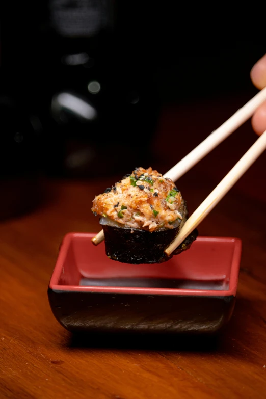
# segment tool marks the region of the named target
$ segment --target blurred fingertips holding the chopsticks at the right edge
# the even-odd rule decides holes
[[[258,89],[266,86],[266,54],[256,62],[250,72],[251,80]],[[254,131],[261,135],[266,130],[266,102],[254,113],[251,124]]]

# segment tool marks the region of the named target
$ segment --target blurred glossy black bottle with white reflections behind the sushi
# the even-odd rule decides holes
[[[149,166],[159,103],[132,11],[110,0],[18,2],[16,32],[6,23],[7,73],[41,122],[47,174]]]

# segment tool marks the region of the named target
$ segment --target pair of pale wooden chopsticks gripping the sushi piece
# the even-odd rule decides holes
[[[214,130],[205,140],[202,141],[194,150],[186,155],[172,169],[164,174],[164,177],[172,179],[174,182],[183,174],[188,172],[204,156],[216,148],[222,141],[229,137],[233,131],[245,123],[256,111],[256,109],[266,101],[266,88],[257,93],[242,108],[236,111],[226,122],[218,129]],[[165,253],[170,255],[188,235],[202,222],[209,212],[218,204],[218,202],[228,193],[238,179],[240,179],[249,167],[266,149],[266,130],[243,155],[230,172],[222,179],[217,187],[200,204],[191,217],[184,223],[182,229],[175,237],[174,241],[165,249]],[[104,240],[104,233],[101,230],[92,242],[98,245]]]

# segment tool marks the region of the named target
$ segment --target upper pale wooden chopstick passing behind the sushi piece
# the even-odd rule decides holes
[[[214,130],[205,140],[194,148],[188,155],[171,168],[164,177],[168,177],[176,181],[183,174],[188,172],[196,165],[204,156],[217,147],[222,141],[229,137],[234,130],[245,123],[256,111],[259,105],[266,100],[266,87],[258,92],[251,100],[249,100],[242,108],[236,111],[226,122],[218,129]],[[184,228],[184,226],[183,226]],[[183,230],[182,228],[182,230]],[[92,238],[94,245],[100,244],[104,240],[104,233],[101,230]]]

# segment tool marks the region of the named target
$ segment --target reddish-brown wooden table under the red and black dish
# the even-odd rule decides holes
[[[162,173],[250,96],[184,104],[164,111],[154,138]],[[190,117],[191,113],[194,115]],[[164,132],[164,136],[162,135]],[[166,134],[172,154],[160,150]],[[180,135],[181,136],[180,139]],[[189,137],[184,142],[182,137]],[[256,139],[247,123],[178,182],[190,211]],[[148,166],[148,165],[145,165]],[[135,165],[132,165],[135,167]],[[90,212],[105,180],[47,181],[48,199],[0,224],[0,397],[262,398],[266,395],[266,154],[201,224],[201,235],[243,240],[238,298],[218,338],[102,341],[72,337],[52,315],[47,286],[69,231],[98,231]],[[127,173],[127,171],[125,171]]]

